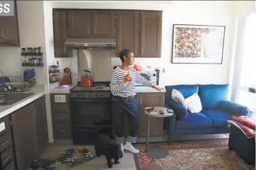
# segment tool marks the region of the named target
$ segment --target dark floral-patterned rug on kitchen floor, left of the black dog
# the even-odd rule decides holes
[[[86,161],[91,161],[93,158],[96,158],[96,156],[84,146],[74,146],[74,148],[64,150],[58,155],[35,160],[31,168],[33,170],[68,170]]]

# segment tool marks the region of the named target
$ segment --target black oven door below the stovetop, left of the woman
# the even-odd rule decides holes
[[[71,99],[72,127],[95,127],[94,122],[111,122],[110,99]]]

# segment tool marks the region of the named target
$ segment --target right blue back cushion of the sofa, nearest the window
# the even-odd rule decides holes
[[[221,100],[227,100],[229,85],[199,85],[198,95],[203,109],[215,108]]]

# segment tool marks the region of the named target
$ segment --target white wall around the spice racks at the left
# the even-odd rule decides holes
[[[22,67],[22,47],[42,47],[45,52],[43,1],[17,1],[20,47],[0,47],[0,69],[5,75],[21,76],[26,68],[35,68],[37,83],[45,84],[46,66]],[[43,56],[46,63],[46,56]]]

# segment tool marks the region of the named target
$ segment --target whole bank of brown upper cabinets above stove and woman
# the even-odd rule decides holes
[[[54,9],[55,57],[67,57],[70,38],[116,38],[116,51],[131,49],[138,58],[161,57],[162,12]],[[118,54],[118,53],[117,53]]]

